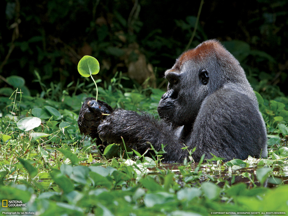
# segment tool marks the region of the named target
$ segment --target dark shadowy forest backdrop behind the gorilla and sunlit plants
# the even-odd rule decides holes
[[[52,83],[79,85],[84,55],[98,59],[100,86],[122,71],[126,88],[166,88],[164,71],[175,59],[212,38],[263,97],[288,94],[287,0],[2,0],[0,8],[0,96],[16,87],[13,75],[32,96]]]

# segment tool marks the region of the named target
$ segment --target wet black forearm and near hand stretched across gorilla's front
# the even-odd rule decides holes
[[[160,151],[163,144],[167,151],[163,155],[165,161],[183,162],[187,156],[181,149],[183,142],[175,135],[171,124],[145,113],[139,115],[135,111],[116,109],[99,125],[98,132],[102,141],[108,143],[122,143],[123,137],[126,145],[141,154],[150,148],[150,143],[156,151]]]

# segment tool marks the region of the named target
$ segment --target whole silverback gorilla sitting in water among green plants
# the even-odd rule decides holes
[[[157,109],[162,120],[86,98],[78,118],[81,134],[104,146],[122,143],[122,136],[140,153],[150,143],[156,151],[163,144],[167,162],[183,162],[188,156],[183,144],[196,147],[194,161],[203,154],[212,158],[210,153],[226,161],[266,157],[266,128],[256,96],[239,62],[217,40],[184,52],[165,78],[167,92]]]

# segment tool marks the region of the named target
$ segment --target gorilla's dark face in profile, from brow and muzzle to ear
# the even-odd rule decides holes
[[[209,73],[206,69],[194,61],[180,65],[179,59],[165,72],[169,83],[157,109],[160,118],[165,118],[176,127],[193,124],[209,88]]]

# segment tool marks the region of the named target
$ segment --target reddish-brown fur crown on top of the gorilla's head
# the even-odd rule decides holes
[[[220,59],[234,61],[232,55],[217,41],[208,40],[199,44],[196,48],[184,52],[169,71],[179,71],[182,64],[188,60],[205,61],[209,56],[216,56]],[[231,58],[232,57],[232,58]],[[235,62],[234,62],[235,63]]]

